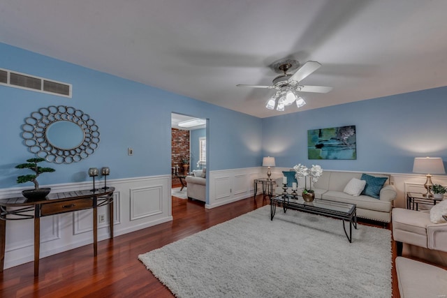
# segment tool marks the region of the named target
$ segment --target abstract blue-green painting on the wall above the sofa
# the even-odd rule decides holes
[[[309,159],[357,159],[356,126],[307,131],[307,157]]]

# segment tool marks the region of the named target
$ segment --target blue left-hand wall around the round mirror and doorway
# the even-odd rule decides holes
[[[171,112],[208,119],[210,170],[258,166],[262,158],[261,119],[10,45],[0,43],[0,53],[0,68],[73,84],[73,98],[0,86],[0,188],[20,186],[16,177],[31,173],[14,168],[34,157],[23,144],[21,126],[31,112],[50,105],[89,114],[101,142],[78,163],[43,164],[57,172],[39,177],[42,185],[89,180],[89,167],[110,167],[110,179],[170,174]]]

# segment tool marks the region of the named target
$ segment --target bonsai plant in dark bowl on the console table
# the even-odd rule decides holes
[[[39,167],[37,164],[45,161],[45,158],[29,158],[27,163],[16,165],[17,169],[29,169],[35,174],[27,174],[17,177],[17,183],[33,182],[34,189],[22,191],[22,195],[28,199],[43,199],[50,193],[51,188],[39,188],[37,177],[42,173],[54,172],[51,167]]]

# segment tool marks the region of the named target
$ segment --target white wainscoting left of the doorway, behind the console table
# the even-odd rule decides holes
[[[170,175],[110,179],[114,192],[114,235],[118,236],[143,228],[172,221]],[[52,192],[91,188],[91,182],[57,184]],[[0,199],[21,196],[25,188],[0,189]],[[32,213],[31,213],[32,214]],[[105,223],[98,224],[98,241],[110,238],[108,207],[98,207]],[[82,210],[41,218],[41,258],[93,243],[93,211]],[[87,256],[88,257],[88,256]],[[91,246],[91,258],[93,246]],[[34,260],[34,221],[6,221],[6,252],[4,269]],[[31,272],[32,274],[32,272]]]

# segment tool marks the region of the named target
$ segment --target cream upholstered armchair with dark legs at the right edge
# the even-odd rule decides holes
[[[403,243],[447,252],[447,223],[432,223],[430,212],[394,208],[393,239],[397,255]]]

